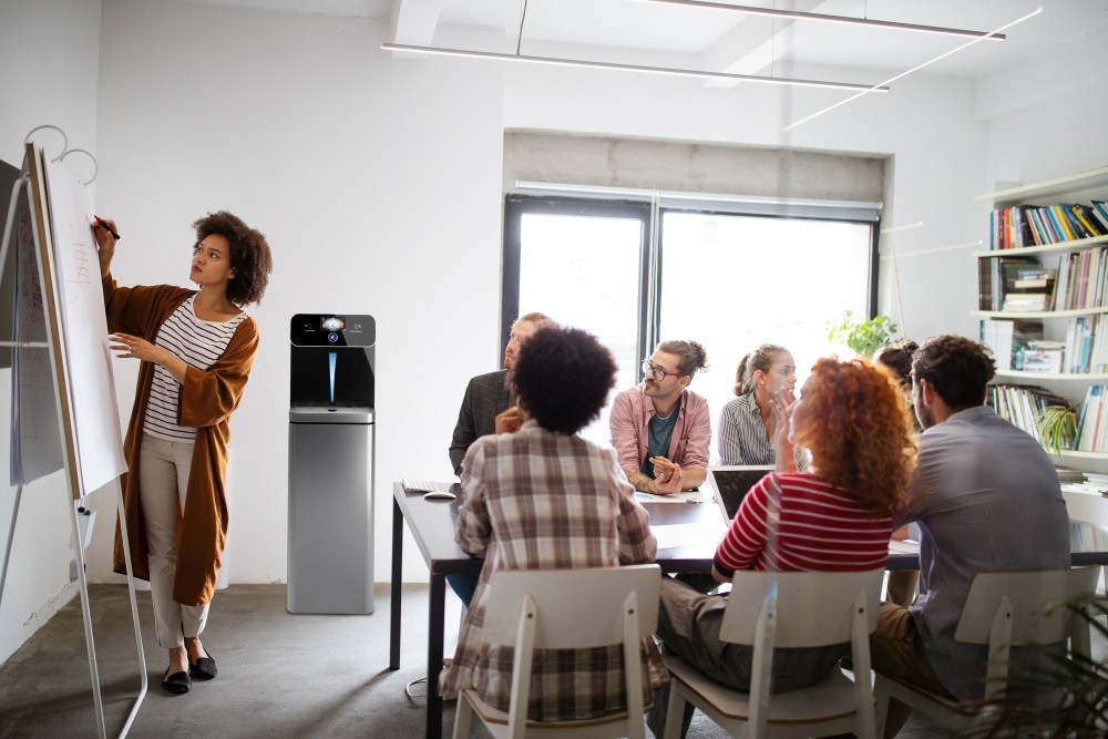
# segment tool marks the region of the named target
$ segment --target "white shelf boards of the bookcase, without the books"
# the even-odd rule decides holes
[[[1054,205],[1060,202],[1066,203],[1088,203],[1090,199],[1108,199],[1108,166],[1079,172],[1065,177],[1047,179],[1029,185],[1018,185],[1005,187],[992,193],[976,196],[974,199],[988,201],[994,208],[1005,208],[1015,205]],[[1083,238],[1046,246],[1029,246],[1014,249],[991,249],[987,252],[976,252],[973,254],[975,264],[981,265],[982,260],[1001,258],[1006,256],[1038,256],[1058,257],[1073,252],[1099,248],[1108,245],[1108,236],[1097,236],[1094,238]],[[1050,261],[1044,259],[1049,265]],[[978,266],[978,269],[982,268]],[[1003,279],[1003,276],[1002,276]],[[1047,310],[1034,312],[1002,312],[998,310],[974,310],[972,315],[981,318],[982,321],[989,320],[1043,320],[1047,338],[1061,338],[1061,332],[1068,321],[1083,317],[1108,314],[1108,305],[1076,310]],[[1085,394],[1092,384],[1108,384],[1108,373],[1057,373],[1057,372],[1025,372],[1018,370],[999,370],[996,373],[997,380],[1005,384],[1037,384],[1047,388],[1068,399],[1075,408],[1081,408]],[[1085,471],[1108,472],[1108,453],[1104,452],[1077,452],[1064,451],[1055,456],[1057,461],[1068,466],[1075,466]],[[1099,503],[1099,501],[1097,501]],[[1088,504],[1088,501],[1083,501]],[[1108,500],[1105,501],[1105,515],[1098,516],[1098,521],[1108,522]]]

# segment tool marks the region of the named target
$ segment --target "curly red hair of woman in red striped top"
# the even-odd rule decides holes
[[[815,473],[862,506],[893,514],[915,469],[912,420],[889,376],[860,360],[820,359],[804,386],[794,442]]]

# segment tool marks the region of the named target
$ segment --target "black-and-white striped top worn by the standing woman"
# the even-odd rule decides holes
[[[230,343],[238,325],[246,318],[242,312],[228,321],[209,321],[196,317],[193,302],[196,296],[182,302],[162,324],[154,345],[168,349],[185,363],[206,370],[215,363]],[[196,429],[177,425],[177,404],[181,399],[181,383],[161,365],[154,365],[154,382],[150,389],[143,432],[170,441],[194,441]]]

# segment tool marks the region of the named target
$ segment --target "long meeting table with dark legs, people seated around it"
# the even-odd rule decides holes
[[[458,483],[435,483],[440,490],[461,493]],[[643,501],[650,514],[650,528],[658,538],[657,563],[668,573],[709,573],[716,544],[725,523],[719,507],[710,501],[670,503]],[[408,528],[430,572],[427,646],[427,722],[428,739],[442,737],[442,697],[438,677],[442,669],[447,575],[478,575],[483,560],[471,557],[454,541],[459,500],[424,500],[420,492],[406,492],[400,482],[392,484],[392,573],[390,587],[389,669],[400,669],[400,587],[403,574],[403,528]],[[1108,528],[1071,521],[1070,547],[1074,566],[1108,564]],[[888,569],[919,569],[919,552],[911,546],[891,546]]]

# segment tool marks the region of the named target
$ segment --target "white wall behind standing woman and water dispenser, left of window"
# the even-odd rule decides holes
[[[250,310],[261,347],[232,421],[232,582],[286,577],[288,324],[312,311],[377,318],[387,581],[391,482],[452,476],[465,382],[500,351],[499,70],[392,60],[381,24],[322,16],[109,0],[103,29],[96,207],[120,224],[120,281],[186,284],[189,225],[219,208],[274,249]],[[133,382],[121,373],[124,419]],[[407,560],[410,578],[425,576],[413,547]]]

